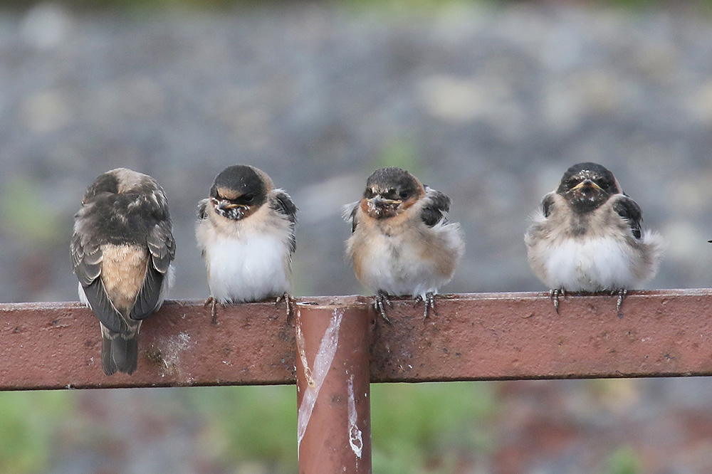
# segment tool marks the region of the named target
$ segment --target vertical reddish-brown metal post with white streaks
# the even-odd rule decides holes
[[[300,474],[371,473],[371,321],[367,305],[297,305]]]

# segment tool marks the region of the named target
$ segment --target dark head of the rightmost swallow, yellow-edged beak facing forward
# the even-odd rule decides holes
[[[566,199],[578,213],[593,211],[621,192],[612,172],[590,162],[575,164],[567,169],[556,190],[556,194]]]

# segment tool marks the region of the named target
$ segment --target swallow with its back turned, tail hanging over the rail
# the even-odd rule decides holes
[[[101,325],[104,373],[132,374],[138,333],[172,285],[175,241],[155,179],[130,169],[101,174],[74,216],[70,243],[79,299]]]

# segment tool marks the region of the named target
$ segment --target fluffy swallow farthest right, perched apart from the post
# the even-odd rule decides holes
[[[550,290],[556,312],[559,294],[618,294],[617,311],[629,288],[657,273],[663,238],[641,227],[640,206],[613,173],[596,163],[566,170],[525,233],[529,264]]]

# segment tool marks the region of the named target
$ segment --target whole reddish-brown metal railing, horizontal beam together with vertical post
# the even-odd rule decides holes
[[[420,303],[422,305],[422,303]],[[144,323],[138,369],[107,377],[77,303],[0,304],[0,390],[297,384],[299,472],[371,472],[370,382],[712,375],[712,290],[444,295],[422,318],[365,297],[218,307],[167,302]]]

